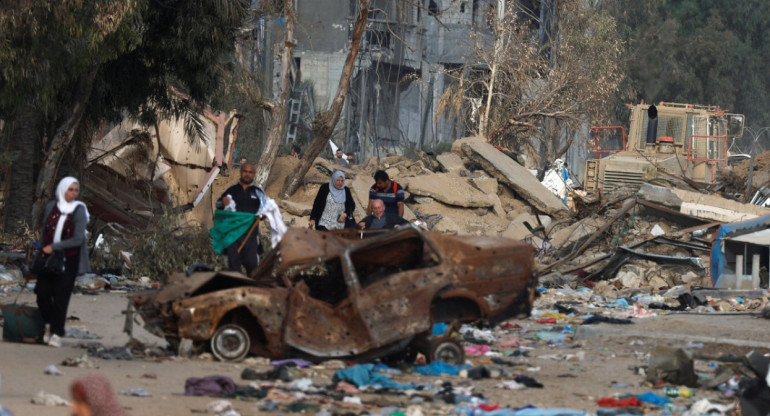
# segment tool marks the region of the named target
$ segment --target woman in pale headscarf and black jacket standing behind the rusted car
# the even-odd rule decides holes
[[[345,174],[336,171],[328,184],[321,185],[310,212],[309,228],[316,230],[341,230],[345,220],[353,218],[356,204],[350,189],[345,186]]]

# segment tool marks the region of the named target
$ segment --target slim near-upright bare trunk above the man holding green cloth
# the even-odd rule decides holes
[[[278,150],[281,148],[281,140],[286,135],[286,117],[289,113],[287,101],[289,98],[289,74],[291,72],[291,58],[294,50],[294,9],[292,0],[284,0],[284,16],[286,18],[286,39],[283,42],[283,56],[281,57],[281,94],[270,117],[270,132],[262,149],[262,156],[256,166],[254,182],[264,188],[270,170],[273,168]]]

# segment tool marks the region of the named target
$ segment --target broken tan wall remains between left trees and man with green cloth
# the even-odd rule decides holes
[[[231,163],[237,137],[233,114],[227,137],[218,137],[217,124],[203,116],[202,137],[195,138],[187,135],[182,119],[161,120],[150,128],[129,120],[113,126],[88,153],[94,180],[85,187],[93,188],[89,192],[97,207],[93,214],[105,221],[141,225],[162,213],[154,203],[161,202],[168,208],[182,208],[188,223],[211,226],[213,199],[206,184],[219,174],[219,166],[226,171]],[[149,184],[149,199],[154,201],[143,201],[128,187],[114,188],[103,182],[104,172],[128,183]],[[100,209],[112,212],[100,213]]]

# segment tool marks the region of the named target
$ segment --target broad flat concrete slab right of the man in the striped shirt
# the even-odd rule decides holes
[[[409,192],[429,196],[447,205],[464,208],[488,208],[492,201],[472,187],[468,181],[453,173],[415,176],[409,180]]]

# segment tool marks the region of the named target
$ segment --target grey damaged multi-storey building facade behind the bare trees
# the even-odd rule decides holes
[[[373,0],[346,106],[332,139],[358,160],[409,147],[433,148],[464,137],[462,123],[435,117],[451,80],[446,70],[465,63],[471,31],[485,31],[492,0],[401,2]],[[294,48],[287,143],[307,143],[309,120],[336,93],[357,16],[357,2],[295,2]],[[272,39],[272,91],[280,79],[282,21],[261,39]],[[272,29],[270,29],[272,28]],[[272,33],[270,33],[272,32]],[[269,41],[268,41],[269,42]],[[260,40],[256,43],[264,45]],[[278,46],[276,46],[278,45]],[[309,87],[312,86],[312,87]],[[308,116],[310,115],[310,116]],[[384,154],[383,154],[384,155]]]

